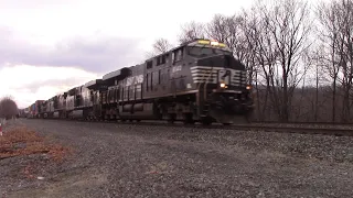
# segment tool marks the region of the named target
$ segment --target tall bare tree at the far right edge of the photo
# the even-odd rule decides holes
[[[339,92],[342,92],[342,121],[351,118],[352,107],[352,36],[353,36],[353,2],[339,0],[322,3],[318,9],[321,30],[318,32],[322,43],[321,64],[332,79],[332,122],[336,118]],[[341,91],[338,90],[341,84]]]

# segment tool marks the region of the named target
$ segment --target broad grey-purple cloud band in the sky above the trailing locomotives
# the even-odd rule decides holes
[[[10,29],[0,26],[0,65],[3,63],[35,66],[75,66],[95,73],[108,73],[139,64],[139,40],[126,37],[76,37],[58,43],[54,48],[19,40]]]

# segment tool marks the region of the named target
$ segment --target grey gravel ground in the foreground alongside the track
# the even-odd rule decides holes
[[[352,197],[353,138],[28,120],[74,153],[0,161],[4,197]],[[30,169],[34,177],[22,173]],[[38,176],[44,179],[38,179]]]

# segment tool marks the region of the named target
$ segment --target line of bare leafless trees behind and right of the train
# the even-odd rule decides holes
[[[353,0],[258,0],[234,15],[182,25],[178,41],[193,38],[223,42],[245,64],[253,120],[351,122]],[[152,54],[171,47],[159,38]]]

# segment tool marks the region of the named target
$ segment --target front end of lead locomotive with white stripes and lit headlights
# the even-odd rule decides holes
[[[199,114],[227,124],[246,122],[253,111],[246,67],[223,43],[199,40],[186,45],[186,56],[197,89]]]

